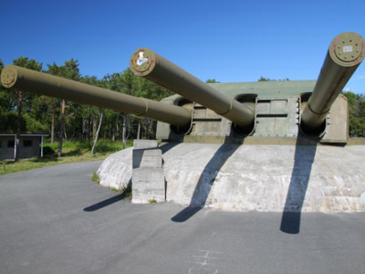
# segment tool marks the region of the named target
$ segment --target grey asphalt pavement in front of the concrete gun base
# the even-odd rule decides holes
[[[131,205],[90,181],[99,162],[0,176],[1,273],[364,273],[365,214]]]

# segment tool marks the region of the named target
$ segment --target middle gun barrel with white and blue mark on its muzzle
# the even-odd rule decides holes
[[[193,100],[215,111],[242,127],[249,127],[255,120],[255,113],[227,95],[195,78],[169,60],[142,47],[130,58],[130,69],[139,76],[172,90],[183,97]]]

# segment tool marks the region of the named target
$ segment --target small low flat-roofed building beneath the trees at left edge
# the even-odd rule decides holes
[[[20,134],[19,158],[43,157],[43,139],[47,134]],[[0,161],[16,158],[16,134],[0,133]]]

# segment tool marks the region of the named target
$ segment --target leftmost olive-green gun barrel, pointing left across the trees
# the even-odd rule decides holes
[[[8,65],[3,69],[1,83],[5,88],[15,87],[36,94],[128,112],[176,126],[188,125],[192,120],[192,112],[183,107],[134,97],[14,65]]]

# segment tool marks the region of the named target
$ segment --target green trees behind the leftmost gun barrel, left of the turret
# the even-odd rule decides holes
[[[98,79],[82,76],[78,60],[73,58],[63,65],[47,64],[47,69],[42,69],[43,64],[35,59],[24,57],[14,59],[13,64],[151,100],[172,95],[171,91],[135,76],[129,68]],[[0,73],[3,68],[0,59]],[[0,132],[48,132],[50,142],[58,141],[58,156],[62,155],[63,140],[93,141],[94,148],[100,136],[121,140],[125,147],[127,140],[153,138],[155,131],[156,121],[150,119],[0,86]]]

